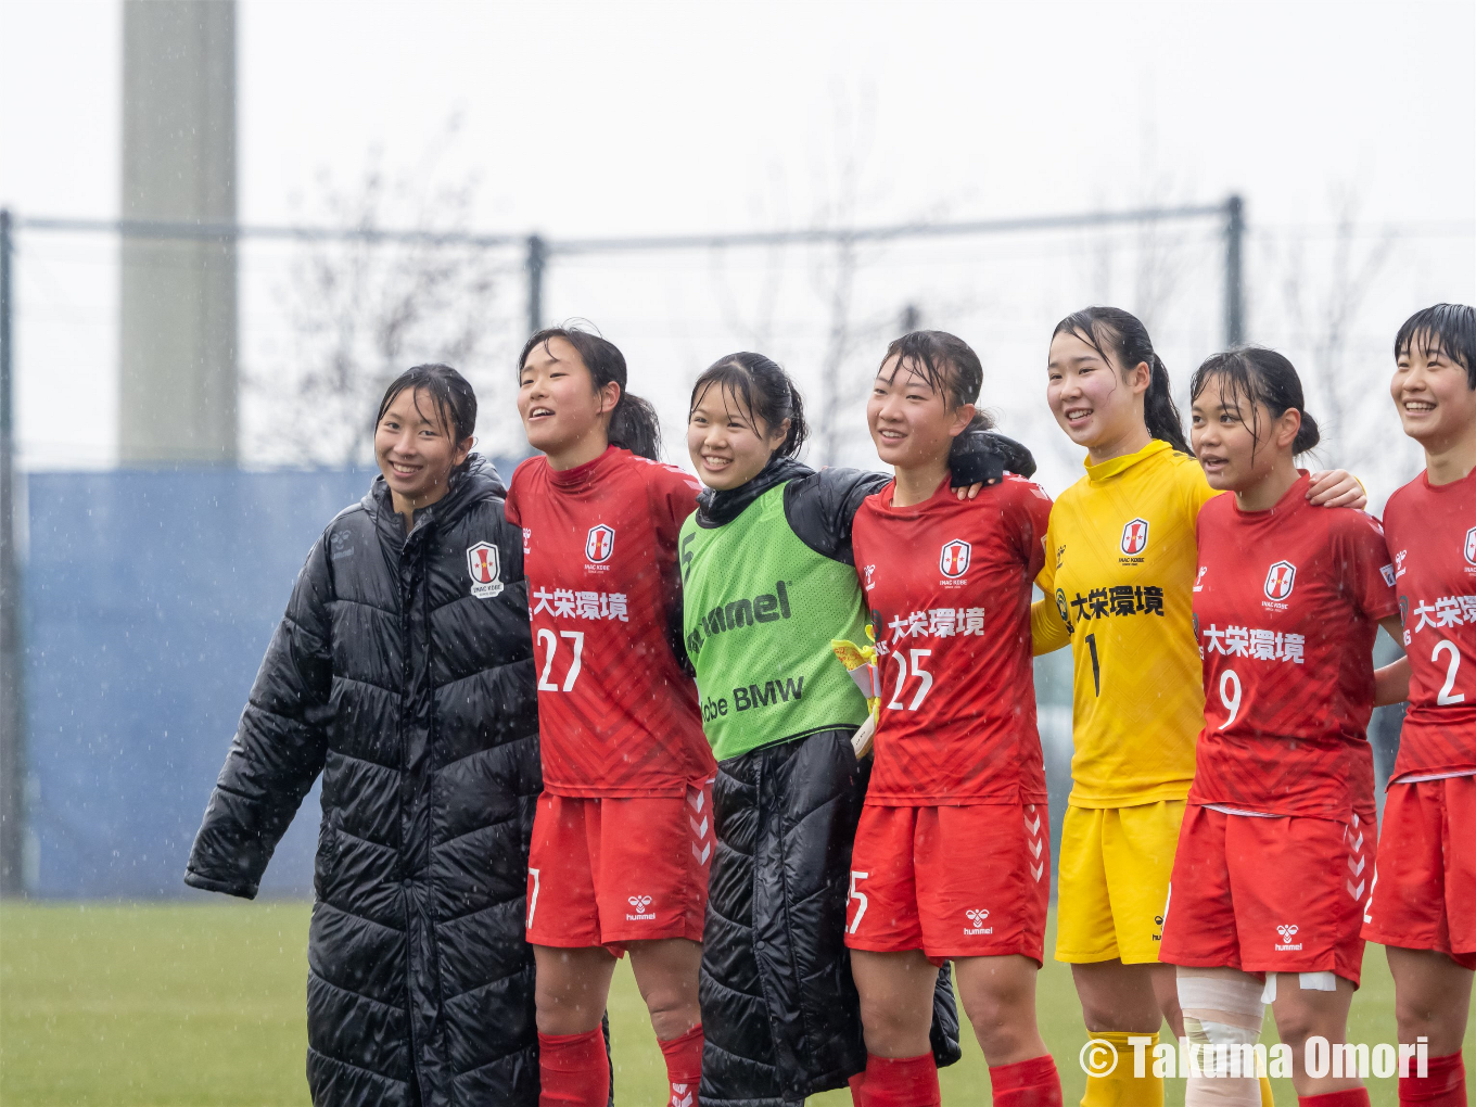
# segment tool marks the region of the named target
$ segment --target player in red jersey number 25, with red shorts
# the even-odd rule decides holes
[[[852,855],[852,973],[866,1033],[862,1104],[939,1104],[934,968],[952,959],[995,1107],[1060,1107],[1035,1021],[1051,852],[1035,728],[1030,589],[1051,500],[1007,475],[959,500],[956,435],[983,368],[955,335],[887,347],[866,421],[896,478],[856,512],[856,571],[883,682]],[[979,859],[987,859],[980,865]]]

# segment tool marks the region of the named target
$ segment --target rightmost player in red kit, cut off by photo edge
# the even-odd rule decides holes
[[[1399,1077],[1399,1103],[1464,1107],[1476,970],[1476,310],[1417,311],[1393,353],[1395,407],[1426,469],[1384,508],[1410,713],[1364,937],[1387,946],[1399,1042],[1427,1039],[1427,1073]]]

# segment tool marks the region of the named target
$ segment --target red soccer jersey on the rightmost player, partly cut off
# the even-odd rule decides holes
[[[1476,472],[1389,497],[1384,531],[1410,655],[1393,778],[1476,769]]]

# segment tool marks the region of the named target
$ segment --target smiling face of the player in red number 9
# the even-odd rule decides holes
[[[1190,409],[1190,444],[1209,486],[1219,492],[1246,492],[1292,463],[1292,444],[1302,413],[1289,407],[1280,419],[1265,404],[1225,387],[1212,376]]]

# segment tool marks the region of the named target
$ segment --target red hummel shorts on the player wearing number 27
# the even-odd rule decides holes
[[[711,781],[686,799],[539,796],[528,853],[528,942],[703,940],[713,861]]]

